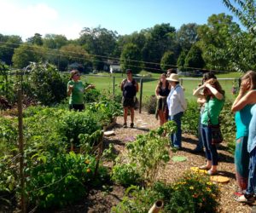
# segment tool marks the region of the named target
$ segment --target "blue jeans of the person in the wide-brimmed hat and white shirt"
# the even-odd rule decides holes
[[[170,139],[171,139],[171,146],[172,147],[177,147],[181,148],[181,135],[182,135],[182,130],[181,130],[181,118],[183,117],[183,112],[178,112],[175,115],[169,116],[169,120],[175,121],[177,124],[177,132],[171,134]]]

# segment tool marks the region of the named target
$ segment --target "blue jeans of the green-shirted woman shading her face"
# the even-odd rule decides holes
[[[207,160],[211,160],[212,165],[218,165],[217,147],[212,144],[212,130],[204,124],[201,124],[201,139],[206,147]]]

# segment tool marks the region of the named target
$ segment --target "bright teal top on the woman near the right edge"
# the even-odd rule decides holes
[[[253,104],[243,107],[235,114],[236,139],[249,135],[249,124],[252,118],[251,108]]]

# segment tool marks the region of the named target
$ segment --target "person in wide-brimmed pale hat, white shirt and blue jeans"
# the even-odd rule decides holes
[[[172,134],[170,138],[171,146],[179,149],[182,147],[181,118],[183,117],[183,112],[187,109],[187,102],[184,98],[183,88],[179,84],[177,74],[172,73],[166,80],[170,82],[172,87],[167,97],[168,120],[173,120],[177,124],[177,132]]]

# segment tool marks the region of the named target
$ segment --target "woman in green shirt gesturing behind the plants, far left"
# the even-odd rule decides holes
[[[78,70],[70,72],[70,81],[67,83],[67,95],[69,96],[69,110],[83,111],[84,110],[84,92],[87,89],[95,88],[90,84],[84,88],[83,82],[80,80]]]

